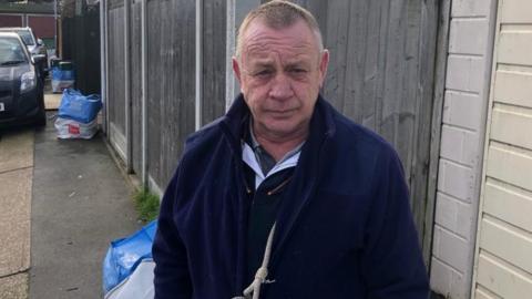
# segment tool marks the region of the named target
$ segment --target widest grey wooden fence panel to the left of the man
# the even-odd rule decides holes
[[[195,6],[186,0],[147,2],[149,173],[162,188],[195,120]]]

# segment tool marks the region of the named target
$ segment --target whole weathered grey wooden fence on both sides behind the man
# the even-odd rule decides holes
[[[200,23],[197,2],[202,3]],[[232,101],[225,96],[226,79],[232,78],[226,71],[226,45],[234,44],[232,38],[226,40],[234,35],[227,34],[227,30],[233,30],[227,24],[228,17],[234,17],[231,11],[235,8],[231,6],[243,2],[259,1],[111,0],[104,4],[109,136],[131,171],[145,173],[155,189],[164,189],[175,169],[183,141],[196,130],[195,115],[201,115],[200,124],[204,125],[223,115],[226,103]],[[431,155],[438,146],[431,138],[439,136],[440,121],[432,115],[441,109],[441,101],[433,96],[441,18],[438,1],[295,2],[315,13],[330,50],[324,95],[346,115],[381,134],[398,151],[428,257],[433,213],[430,186],[436,182],[429,176],[429,166],[438,158]],[[141,63],[143,11],[146,73]],[[200,90],[195,79],[196,53],[202,58]],[[124,65],[129,65],[126,82]],[[147,80],[144,90],[143,75]],[[197,93],[202,95],[201,103],[196,102]],[[147,121],[145,140],[142,115]]]

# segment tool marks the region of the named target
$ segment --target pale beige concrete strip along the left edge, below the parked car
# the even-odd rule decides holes
[[[0,298],[28,298],[33,130],[0,134]]]

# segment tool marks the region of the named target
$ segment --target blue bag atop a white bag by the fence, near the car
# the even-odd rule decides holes
[[[100,95],[83,95],[80,91],[66,89],[61,97],[58,116],[88,124],[96,117],[100,109],[102,109]]]

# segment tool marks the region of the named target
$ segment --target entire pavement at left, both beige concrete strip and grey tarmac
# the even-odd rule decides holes
[[[53,121],[0,132],[0,299],[101,298],[109,243],[141,226],[101,133],[57,140]]]

